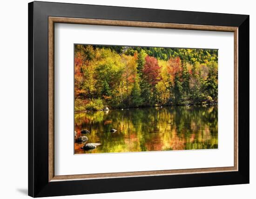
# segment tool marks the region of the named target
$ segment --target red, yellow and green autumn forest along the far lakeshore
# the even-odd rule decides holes
[[[210,49],[75,45],[75,111],[216,103]]]

